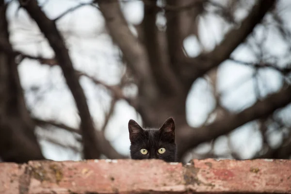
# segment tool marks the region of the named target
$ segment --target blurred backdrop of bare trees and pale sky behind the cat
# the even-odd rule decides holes
[[[0,159],[291,158],[290,0],[0,0]]]

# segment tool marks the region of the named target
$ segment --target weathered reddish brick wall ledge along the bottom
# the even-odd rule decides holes
[[[291,160],[0,163],[0,194],[287,193]]]

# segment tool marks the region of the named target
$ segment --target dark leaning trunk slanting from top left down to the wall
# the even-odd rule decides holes
[[[102,145],[97,142],[95,128],[88,109],[86,97],[81,88],[78,76],[73,68],[63,37],[57,30],[55,23],[42,12],[36,0],[19,0],[19,2],[35,20],[40,30],[48,39],[51,48],[55,52],[56,59],[63,70],[66,83],[72,92],[81,117],[84,158],[99,158],[101,154],[99,148]]]

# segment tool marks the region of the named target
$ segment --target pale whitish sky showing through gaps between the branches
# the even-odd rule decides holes
[[[40,0],[40,4],[46,2],[43,11],[50,19],[64,13],[70,7],[88,0]],[[218,1],[223,3],[224,1]],[[280,1],[281,7],[289,6],[287,0]],[[288,5],[288,6],[287,6]],[[26,11],[16,11],[18,4],[13,1],[8,8],[9,28],[11,42],[15,49],[31,55],[53,57],[53,50],[39,31],[35,22],[27,16]],[[251,4],[249,5],[251,7]],[[143,19],[143,3],[140,0],[131,0],[122,5],[123,13],[129,22],[129,27],[136,34],[133,25],[139,24]],[[16,14],[17,13],[17,14]],[[236,13],[236,19],[241,20],[247,15],[247,9],[241,9]],[[290,13],[283,13],[284,18],[290,18]],[[157,23],[164,25],[166,19],[158,16]],[[286,19],[288,28],[290,21]],[[86,72],[96,79],[108,84],[116,84],[120,81],[124,67],[118,62],[118,50],[113,45],[110,36],[104,33],[104,19],[101,13],[91,6],[83,6],[71,14],[67,14],[57,21],[57,27],[66,40],[74,67]],[[219,17],[208,15],[199,20],[199,36],[204,49],[211,50],[223,39],[230,27]],[[264,40],[264,48],[274,55],[282,55],[288,49],[286,44],[278,37],[272,28],[264,29],[256,27],[253,37],[262,39],[265,33],[268,37]],[[184,47],[191,57],[197,56],[201,48],[197,44],[197,38],[190,35],[184,40]],[[248,45],[239,46],[232,53],[232,57],[246,62],[256,62],[257,57]],[[282,62],[283,63],[283,62]],[[60,67],[40,65],[37,61],[25,59],[18,67],[21,85],[25,90],[25,97],[32,114],[43,119],[54,119],[68,126],[78,128],[80,119],[69,92]],[[246,65],[238,65],[231,61],[225,61],[218,69],[219,91],[229,91],[222,96],[222,105],[227,109],[237,112],[251,106],[256,101],[254,69]],[[110,93],[102,86],[97,86],[92,81],[81,78],[81,86],[88,99],[90,113],[95,125],[100,128],[104,122],[104,110],[110,107]],[[272,69],[259,70],[259,87],[261,95],[278,91],[282,85],[281,75]],[[136,89],[129,88],[131,95],[136,94]],[[214,98],[211,87],[205,79],[197,79],[187,97],[186,113],[189,125],[199,127],[206,119],[207,114],[214,106]],[[106,137],[111,141],[116,150],[129,155],[128,121],[134,119],[142,125],[142,121],[136,111],[124,100],[119,100],[114,113],[106,129]],[[55,161],[80,160],[81,156],[68,148],[62,148],[46,141],[53,138],[66,145],[77,146],[80,144],[74,135],[64,130],[37,128],[45,157]],[[276,146],[282,138],[282,134],[272,134],[272,145]],[[261,136],[255,122],[250,122],[231,133],[231,142],[234,149],[240,150],[242,158],[251,157],[261,146]],[[218,138],[215,152],[217,154],[227,151],[226,137]],[[197,152],[203,152],[209,148],[204,144],[199,146]]]

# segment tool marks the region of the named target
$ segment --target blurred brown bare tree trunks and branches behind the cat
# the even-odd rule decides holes
[[[134,26],[137,36],[129,28],[130,25],[122,11],[121,5],[123,3],[127,3],[127,1],[95,0],[89,3],[80,3],[55,19],[50,19],[42,9],[44,5],[36,0],[19,0],[19,8],[26,11],[46,37],[55,54],[53,58],[36,57],[13,49],[9,42],[7,21],[1,20],[1,34],[5,34],[5,36],[1,36],[3,38],[1,38],[0,44],[1,56],[5,61],[1,63],[3,66],[1,68],[8,69],[13,66],[12,69],[9,69],[11,73],[8,70],[1,71],[3,74],[1,78],[6,78],[1,79],[0,82],[5,86],[1,87],[4,88],[1,94],[7,94],[7,97],[5,98],[6,95],[4,95],[0,100],[2,104],[0,106],[0,126],[4,126],[0,128],[0,133],[5,134],[5,137],[11,137],[1,141],[0,156],[4,161],[27,162],[28,160],[44,159],[37,138],[33,133],[34,125],[52,125],[81,135],[79,141],[83,147],[84,159],[96,159],[100,158],[101,155],[112,159],[126,158],[114,149],[105,136],[105,129],[113,113],[115,103],[121,99],[126,100],[141,115],[143,124],[147,127],[157,127],[161,124],[159,123],[161,120],[165,120],[169,116],[175,118],[180,160],[201,143],[210,142],[213,146],[217,138],[228,135],[234,129],[251,121],[258,124],[258,129],[263,136],[261,148],[263,152],[258,152],[253,158],[290,157],[290,128],[288,123],[284,119],[282,120],[282,117],[278,116],[277,113],[284,107],[288,108],[291,102],[291,87],[288,80],[290,79],[290,62],[278,65],[282,63],[278,59],[279,57],[263,50],[263,46],[259,45],[260,43],[254,37],[255,33],[259,31],[259,27],[269,28],[272,26],[277,29],[282,39],[287,43],[290,42],[290,30],[285,27],[283,17],[279,15],[280,1],[257,0],[246,3],[237,0],[219,4],[210,0],[144,0],[143,21]],[[1,9],[6,10],[6,6],[7,4],[2,0]],[[76,12],[83,6],[91,6],[96,8],[96,12],[100,11],[106,24],[105,32],[110,34],[114,44],[121,52],[119,63],[126,67],[126,71],[117,85],[107,84],[86,72],[77,70],[72,63],[72,56],[70,56],[64,38],[65,34],[60,32],[56,24],[61,18]],[[249,9],[245,7],[249,7]],[[243,18],[236,16],[240,9],[248,10],[248,14]],[[213,49],[207,50],[201,41],[201,32],[199,32],[201,22],[199,21],[208,14],[215,14],[224,19],[229,30]],[[165,25],[160,25],[157,22],[158,16],[166,19]],[[2,18],[5,18],[4,15]],[[196,47],[201,49],[200,53],[194,57],[189,56],[185,48],[185,40],[190,36],[196,38],[198,42]],[[252,50],[253,54],[256,55],[255,62],[241,61],[233,57],[234,51],[243,45],[250,45],[250,48],[256,47]],[[29,114],[25,107],[16,70],[15,59],[19,57],[36,60],[44,65],[60,66],[65,83],[74,98],[80,115],[80,130]],[[282,56],[281,59],[283,59]],[[284,78],[282,87],[272,94],[258,95],[257,102],[251,106],[243,107],[243,110],[239,112],[231,111],[221,103],[223,94],[217,88],[218,68],[226,61],[252,67],[255,70],[254,77],[262,68],[274,69]],[[96,130],[84,89],[80,84],[80,78],[83,77],[98,85],[103,85],[111,92],[111,108],[106,114],[100,130]],[[215,106],[208,114],[206,122],[194,128],[187,121],[186,101],[193,84],[201,78],[211,85]],[[13,81],[10,80],[15,83],[11,85]],[[135,97],[130,97],[124,92],[124,88],[132,84],[138,88]],[[260,89],[256,91],[259,92]],[[15,101],[7,103],[8,98]],[[15,106],[17,108],[14,108]],[[13,112],[7,110],[13,110]],[[10,121],[10,117],[13,118],[12,121]],[[34,124],[32,124],[32,120]],[[16,126],[14,126],[15,124]],[[273,129],[274,125],[279,126],[276,128],[280,131],[289,130],[289,132],[284,133],[281,146],[275,149],[267,141],[268,130]],[[12,134],[6,134],[5,131],[8,130],[5,126],[9,126],[9,131]],[[3,136],[1,135],[1,137]],[[17,138],[26,142],[18,141]],[[56,143],[54,140],[50,141]],[[4,149],[7,144],[11,148]],[[37,150],[33,155],[30,151],[32,148]],[[231,150],[230,154],[233,158],[241,159],[236,150]],[[202,157],[222,156],[217,156],[211,149]]]

